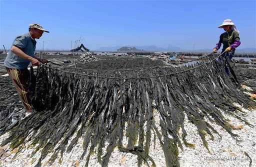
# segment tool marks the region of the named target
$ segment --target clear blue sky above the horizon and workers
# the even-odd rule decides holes
[[[230,18],[240,33],[240,48],[256,47],[255,0],[0,0],[0,48],[8,49],[31,22],[50,33],[45,49],[70,49],[84,38],[89,49],[124,45],[213,48]]]

